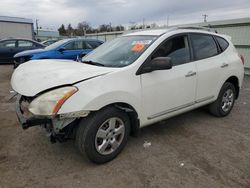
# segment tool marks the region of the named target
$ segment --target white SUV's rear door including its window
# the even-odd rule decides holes
[[[197,67],[196,102],[202,103],[216,98],[225,59],[212,35],[192,33],[190,38]]]

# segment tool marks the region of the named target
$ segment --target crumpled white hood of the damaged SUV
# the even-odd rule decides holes
[[[20,65],[12,74],[11,86],[24,96],[57,86],[74,84],[113,72],[117,68],[88,65],[70,60],[32,60]]]

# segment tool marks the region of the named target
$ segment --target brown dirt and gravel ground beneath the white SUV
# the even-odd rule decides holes
[[[0,66],[0,187],[250,187],[250,77],[231,114],[198,109],[143,128],[113,161],[95,165],[72,141],[22,130]],[[151,146],[143,147],[145,142]]]

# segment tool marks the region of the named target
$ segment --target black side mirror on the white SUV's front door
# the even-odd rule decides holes
[[[155,70],[168,70],[172,68],[172,61],[170,57],[156,57],[147,63],[142,70],[141,74],[153,72]]]

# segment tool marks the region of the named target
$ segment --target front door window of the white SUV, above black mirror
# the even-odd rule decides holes
[[[188,63],[190,53],[187,36],[177,36],[164,42],[152,55],[156,57],[170,57],[173,66]]]

